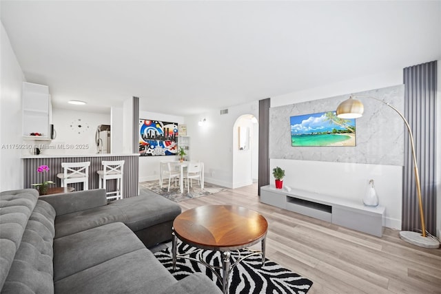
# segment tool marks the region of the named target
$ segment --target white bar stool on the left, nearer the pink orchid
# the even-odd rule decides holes
[[[89,189],[89,166],[90,161],[86,162],[61,162],[64,172],[57,174],[61,179],[61,187],[74,182],[83,182],[83,190]]]

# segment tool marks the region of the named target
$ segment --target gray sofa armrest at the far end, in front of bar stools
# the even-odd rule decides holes
[[[57,216],[107,205],[105,189],[45,195],[40,196],[39,200],[51,204]]]

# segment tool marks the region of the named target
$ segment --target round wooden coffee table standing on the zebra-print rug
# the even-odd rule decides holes
[[[184,211],[173,222],[173,269],[176,269],[176,258],[189,258],[176,252],[177,239],[200,249],[220,251],[222,256],[222,277],[215,267],[201,262],[222,281],[223,293],[228,291],[230,271],[239,262],[251,255],[261,254],[265,264],[265,237],[268,222],[256,211],[245,207],[231,205],[207,205]],[[243,249],[261,242],[261,251],[256,251],[230,264],[230,251]],[[193,258],[189,258],[194,260]]]

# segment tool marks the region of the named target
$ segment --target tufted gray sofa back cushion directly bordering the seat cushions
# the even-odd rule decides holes
[[[37,200],[1,293],[54,293],[54,219],[54,208]]]

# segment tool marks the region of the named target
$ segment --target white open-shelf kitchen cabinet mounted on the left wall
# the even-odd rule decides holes
[[[23,83],[23,139],[50,140],[50,104],[49,87],[34,83]],[[41,136],[31,136],[39,133]]]

